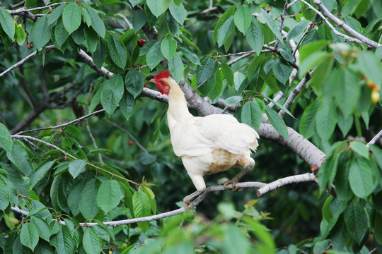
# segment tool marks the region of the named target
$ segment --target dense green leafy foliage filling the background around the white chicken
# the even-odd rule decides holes
[[[322,1],[360,43],[316,1],[284,15],[284,1],[266,0],[1,1],[0,252],[382,253],[381,141],[368,144],[382,126],[382,6]],[[267,116],[279,136],[260,140],[243,181],[318,167],[318,184],[210,193],[196,212],[105,226],[175,210],[195,191],[148,82],[163,69],[256,130]],[[287,126],[325,152],[322,165],[277,145],[294,138]]]

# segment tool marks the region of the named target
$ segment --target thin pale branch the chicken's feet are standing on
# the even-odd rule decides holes
[[[306,173],[306,174],[301,174],[301,175],[296,175],[296,176],[287,176],[283,179],[279,179],[277,181],[273,181],[272,183],[260,183],[260,182],[242,182],[242,183],[237,183],[236,186],[240,188],[259,188],[257,191],[258,192],[261,190],[260,195],[264,195],[265,193],[269,191],[273,191],[276,188],[285,186],[287,184],[291,183],[301,183],[301,182],[306,182],[306,181],[314,181],[315,176],[311,173]],[[232,188],[232,185],[229,184],[228,188]],[[199,205],[205,198],[207,198],[207,195],[209,193],[212,193],[214,191],[226,191],[226,188],[224,186],[210,186],[206,188],[206,191],[202,193],[202,195],[199,195],[195,200],[192,201],[192,204],[194,207]],[[259,196],[260,196],[259,195]],[[18,212],[21,214],[24,214],[27,216],[29,212],[21,210],[18,207],[11,207],[13,212]],[[183,212],[186,212],[185,207],[178,208],[176,210],[170,211],[170,212],[163,212],[161,214],[156,214],[152,216],[147,216],[147,217],[140,217],[140,218],[134,218],[134,219],[122,219],[122,220],[117,220],[117,221],[112,221],[112,222],[103,222],[103,224],[107,226],[120,226],[120,225],[125,225],[125,224],[134,224],[138,222],[151,222],[156,219],[163,219],[166,217],[172,217],[176,214],[181,214]],[[59,221],[60,224],[65,224],[63,221]],[[96,222],[90,222],[90,223],[80,223],[81,226],[96,226],[98,223]]]

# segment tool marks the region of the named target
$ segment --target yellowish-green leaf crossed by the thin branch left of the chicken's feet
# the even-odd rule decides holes
[[[150,197],[144,191],[139,190],[133,194],[133,207],[135,217],[146,217],[151,215]],[[149,229],[150,222],[139,222],[138,225],[143,232]]]

